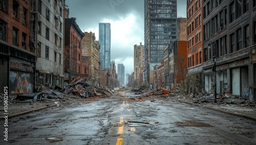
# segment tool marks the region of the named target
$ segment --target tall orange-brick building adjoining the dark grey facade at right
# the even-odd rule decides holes
[[[202,0],[187,1],[187,68],[190,88],[202,91],[203,86],[203,3]],[[194,90],[194,89],[193,89]]]

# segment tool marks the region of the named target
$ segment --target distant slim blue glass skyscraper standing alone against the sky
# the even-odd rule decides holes
[[[111,31],[110,23],[99,23],[99,61],[101,70],[110,68]]]

